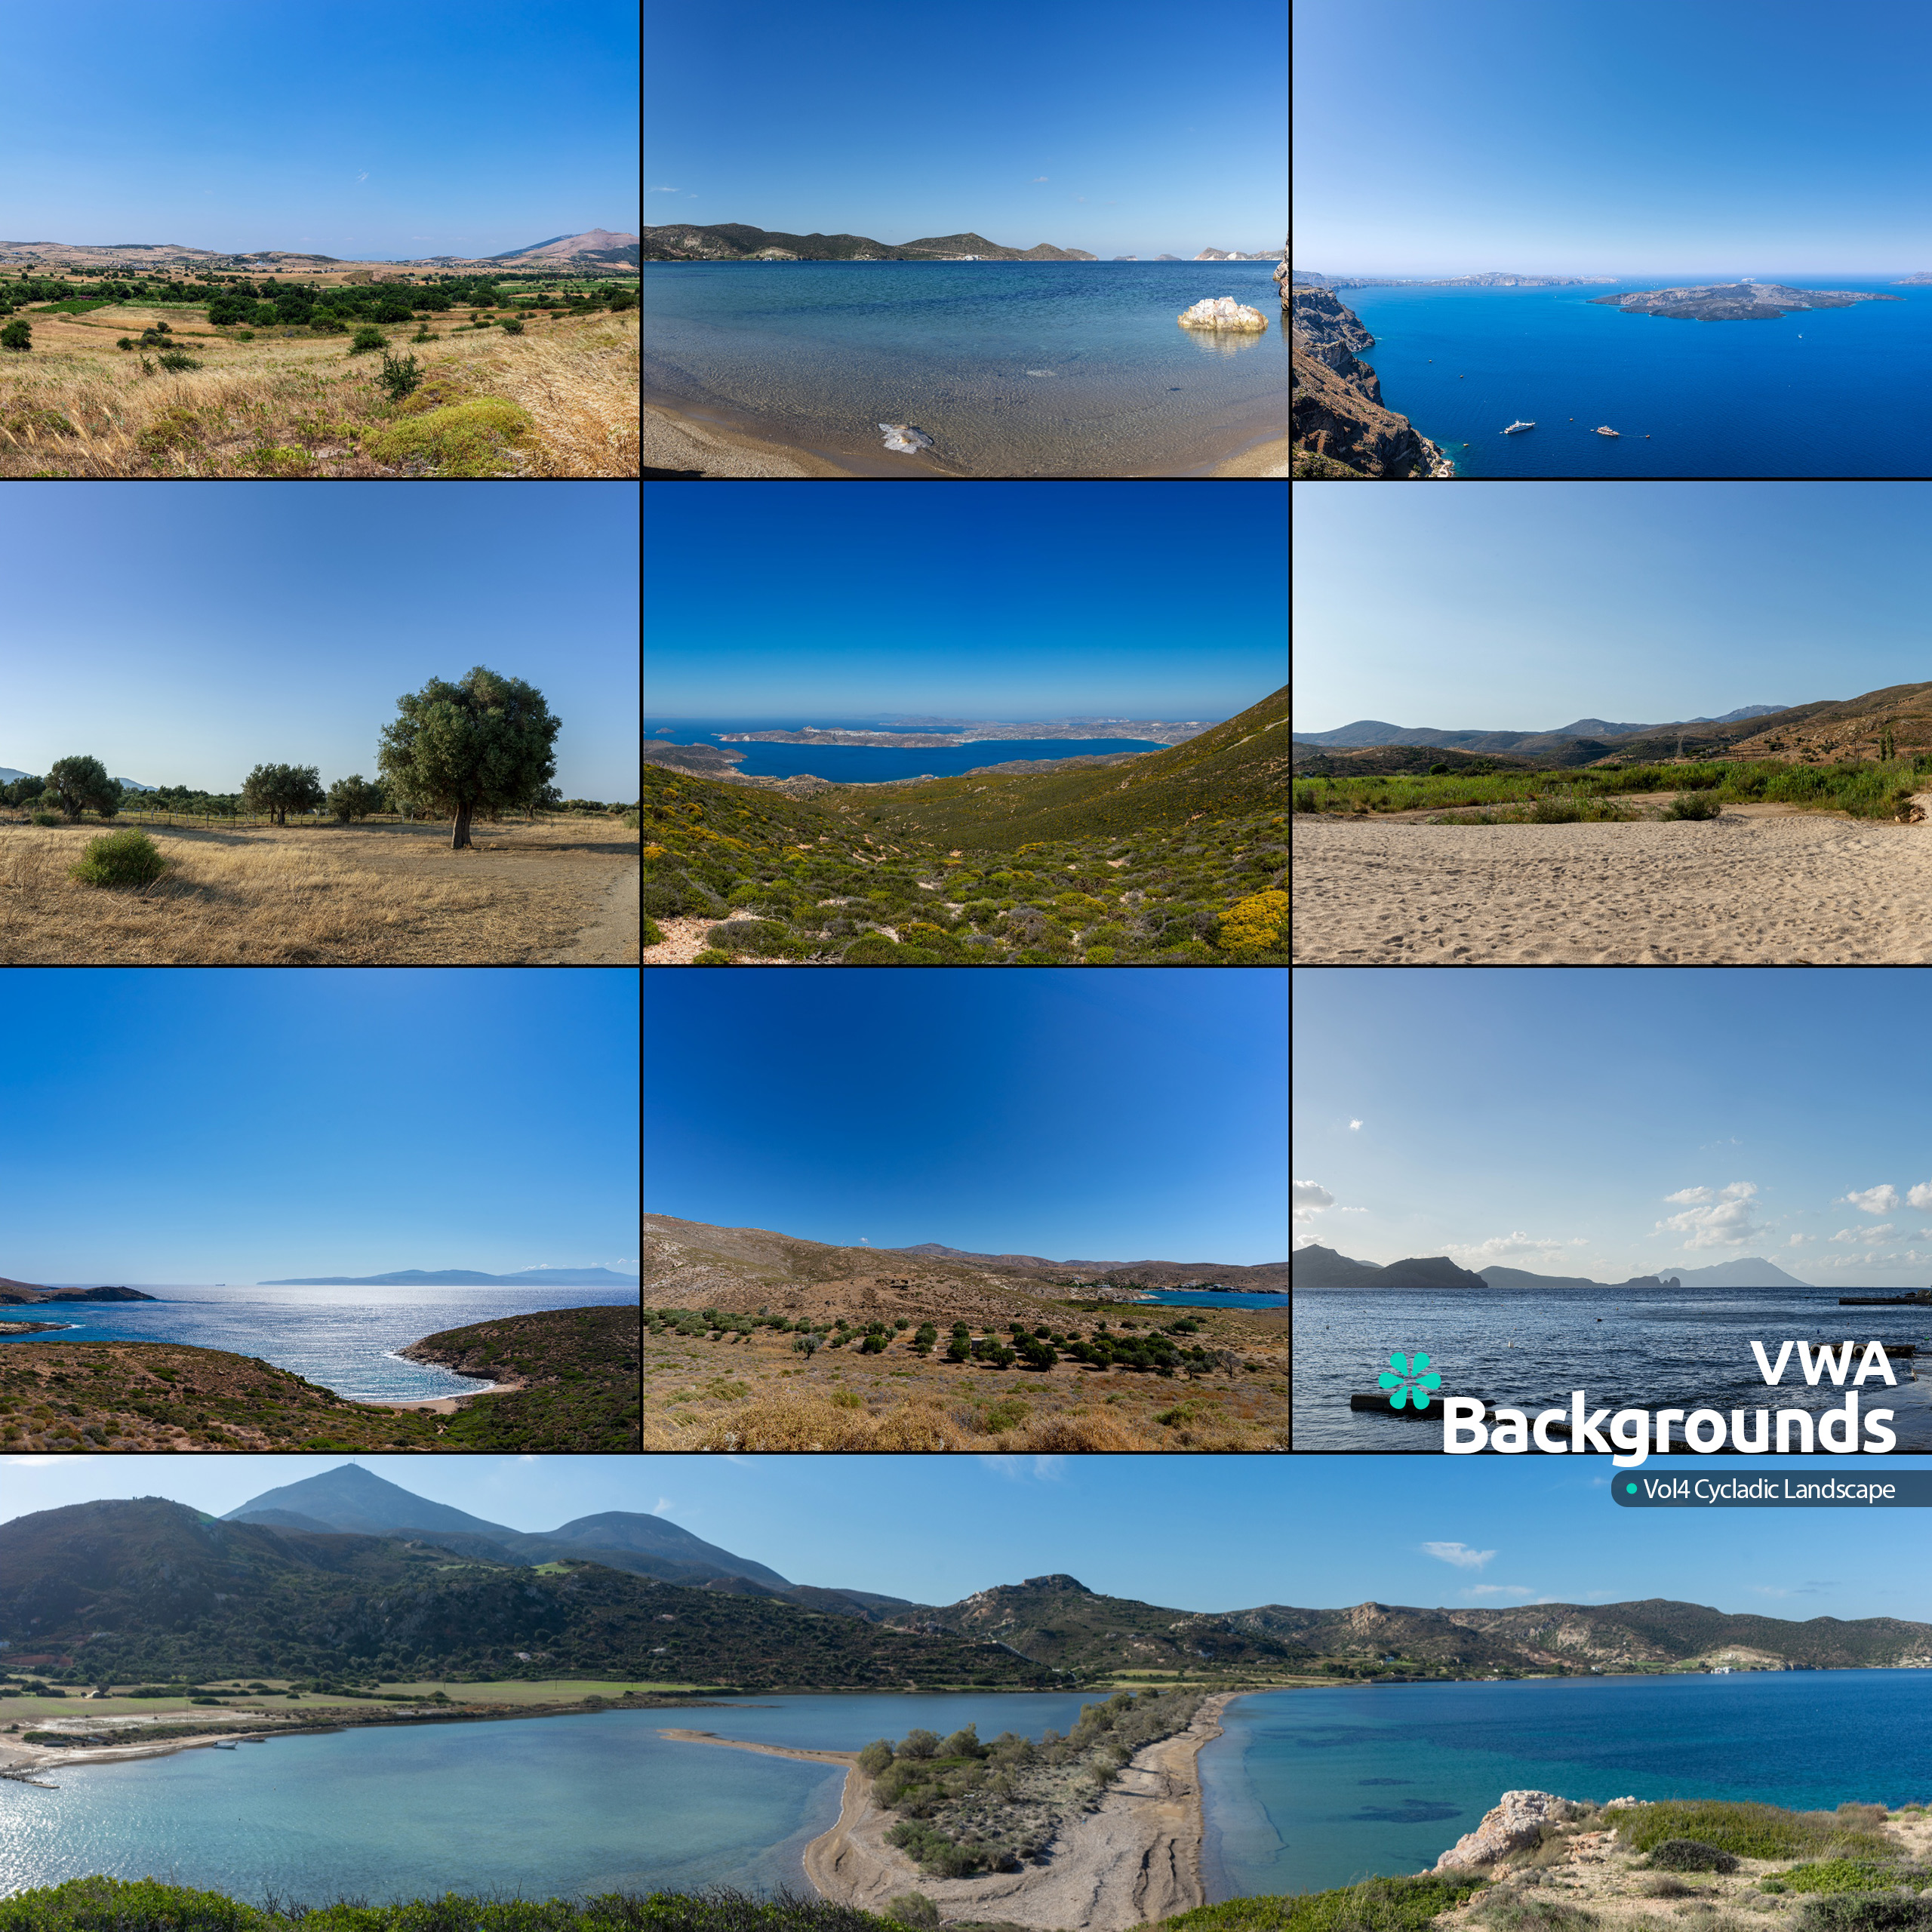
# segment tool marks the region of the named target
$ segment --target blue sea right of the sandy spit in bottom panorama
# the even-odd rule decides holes
[[[1215,1903],[1428,1870],[1505,1791],[1932,1799],[1932,1671],[1269,1690],[1200,1754]]]

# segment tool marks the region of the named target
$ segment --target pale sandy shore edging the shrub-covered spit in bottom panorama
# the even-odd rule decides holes
[[[1233,1692],[1206,1698],[1186,1731],[1138,1750],[1099,1808],[1053,1841],[1045,1864],[974,1878],[925,1878],[912,1859],[887,1845],[895,1818],[871,1803],[871,1779],[860,1772],[854,1752],[740,1745],[709,1731],[663,1735],[846,1766],[838,1822],[806,1847],[806,1878],[823,1899],[883,1911],[895,1897],[922,1891],[945,1918],[999,1918],[1055,1932],[1126,1932],[1206,1903],[1194,1758],[1202,1745],[1221,1735],[1221,1712],[1231,1702]]]

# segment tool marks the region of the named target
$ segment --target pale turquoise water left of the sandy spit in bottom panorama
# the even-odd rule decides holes
[[[0,1893],[87,1872],[305,1903],[460,1891],[806,1889],[837,1766],[672,1743],[665,1725],[856,1750],[914,1725],[1066,1731],[1078,1696],[800,1696],[738,1708],[381,1727],[0,1781]]]

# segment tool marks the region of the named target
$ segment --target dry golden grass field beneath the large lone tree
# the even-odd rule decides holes
[[[435,827],[147,827],[168,869],[116,891],[68,877],[99,831],[0,823],[0,964],[539,964],[599,918],[638,837],[479,827],[452,852]]]

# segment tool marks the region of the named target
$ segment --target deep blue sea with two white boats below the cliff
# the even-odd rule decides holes
[[[1376,336],[1381,396],[1468,477],[1922,477],[1932,473],[1932,286],[1776,323],[1679,323],[1592,305],[1633,288],[1343,288]],[[1505,437],[1519,419],[1536,429]],[[1598,423],[1621,431],[1598,437]]]

